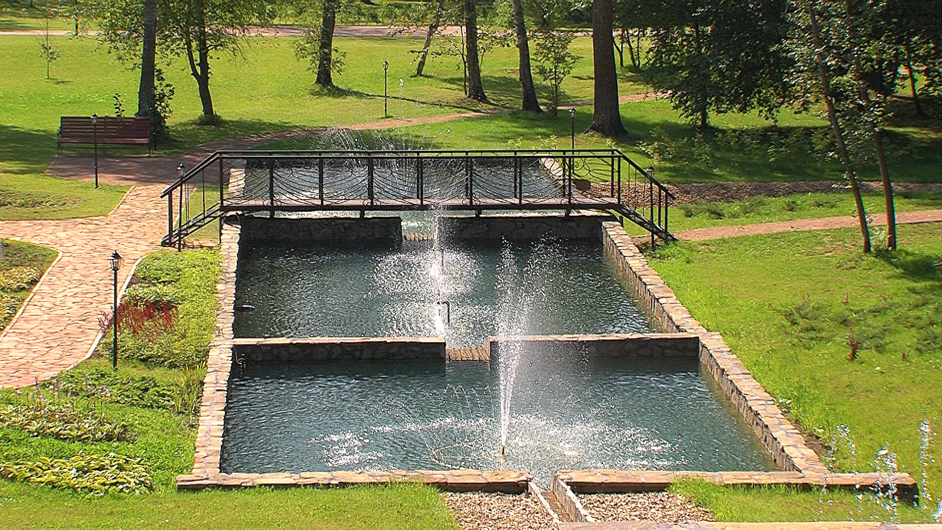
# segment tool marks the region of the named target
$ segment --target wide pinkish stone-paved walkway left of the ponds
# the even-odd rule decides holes
[[[0,335],[0,387],[24,387],[68,370],[91,354],[98,316],[110,312],[108,257],[124,257],[119,285],[138,258],[154,251],[166,230],[162,186],[138,186],[106,217],[60,221],[5,221],[0,237],[40,244],[60,256],[42,277],[21,314]]]

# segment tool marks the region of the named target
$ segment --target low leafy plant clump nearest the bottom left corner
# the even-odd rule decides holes
[[[109,453],[78,455],[68,460],[40,456],[36,461],[0,461],[0,477],[73,489],[100,497],[108,492],[147,493],[154,481],[139,458]]]

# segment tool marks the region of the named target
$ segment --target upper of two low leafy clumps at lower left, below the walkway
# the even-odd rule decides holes
[[[73,403],[49,403],[42,395],[29,397],[24,403],[0,405],[0,426],[21,429],[34,437],[84,443],[135,439],[127,423],[109,420],[93,408],[83,411]]]

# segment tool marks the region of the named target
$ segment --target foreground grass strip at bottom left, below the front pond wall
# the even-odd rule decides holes
[[[22,528],[448,529],[438,492],[419,485],[161,491],[86,499],[0,480],[0,526]]]

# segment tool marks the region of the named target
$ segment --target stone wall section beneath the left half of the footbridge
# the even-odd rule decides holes
[[[398,245],[402,242],[402,220],[397,216],[370,217],[256,217],[241,218],[242,240],[265,242],[371,242]]]

